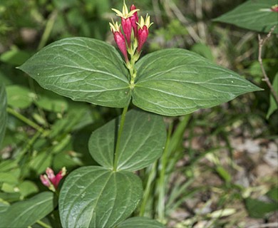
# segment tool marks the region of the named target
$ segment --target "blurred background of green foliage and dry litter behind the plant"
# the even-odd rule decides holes
[[[277,222],[272,202],[277,204],[273,161],[278,113],[266,118],[269,88],[257,61],[257,33],[212,22],[242,2],[126,0],[154,22],[143,54],[186,48],[264,88],[209,110],[166,118],[171,143],[158,162],[138,173],[145,195],[137,214],[175,227]],[[0,81],[6,86],[9,105],[0,148],[2,202],[9,204],[44,190],[38,175],[48,166],[72,170],[94,164],[88,155],[88,137],[119,110],[73,102],[43,90],[15,67],[65,37],[86,36],[115,45],[108,26],[115,19],[110,9],[121,9],[122,4],[116,0],[0,1]],[[271,81],[278,71],[277,43],[272,35],[263,52]]]

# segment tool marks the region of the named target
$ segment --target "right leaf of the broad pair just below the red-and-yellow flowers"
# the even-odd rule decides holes
[[[185,115],[260,90],[237,73],[190,51],[156,51],[136,64],[133,104],[161,115]]]

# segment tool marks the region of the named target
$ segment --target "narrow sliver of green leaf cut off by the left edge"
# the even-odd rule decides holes
[[[0,147],[6,131],[6,91],[4,84],[0,83]]]

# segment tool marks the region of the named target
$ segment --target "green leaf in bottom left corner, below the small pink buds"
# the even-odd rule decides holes
[[[0,214],[0,227],[29,227],[46,217],[56,207],[53,192],[41,192],[25,201],[12,204]]]

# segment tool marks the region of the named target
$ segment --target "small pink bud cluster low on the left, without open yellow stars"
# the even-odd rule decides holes
[[[40,179],[43,185],[48,187],[49,190],[56,192],[58,189],[59,182],[66,175],[66,167],[63,167],[57,175],[54,175],[54,172],[51,168],[46,168],[46,175],[41,175]]]

